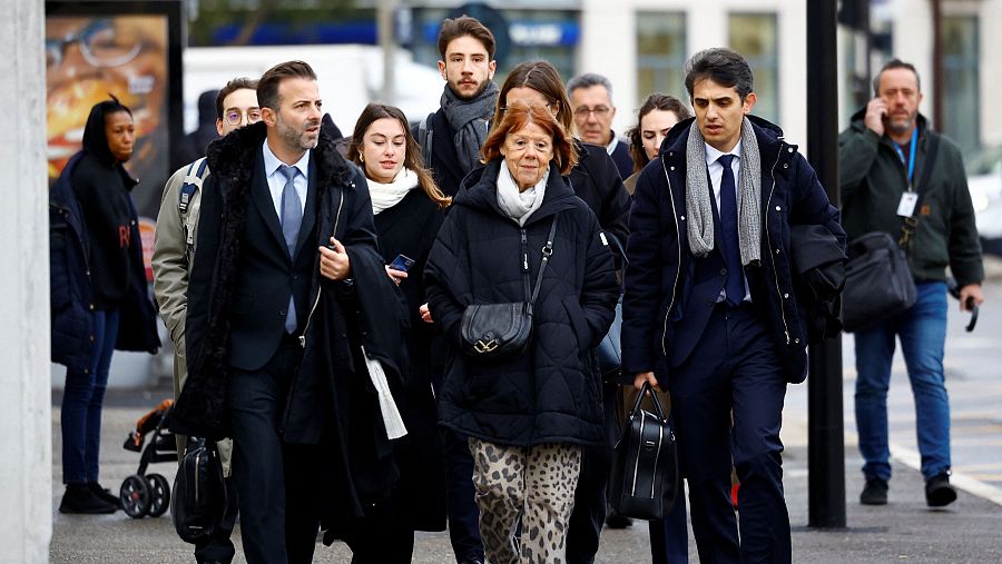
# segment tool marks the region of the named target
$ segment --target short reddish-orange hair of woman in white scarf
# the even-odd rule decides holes
[[[480,149],[483,162],[502,158],[501,146],[504,145],[508,135],[521,131],[527,123],[536,123],[550,136],[550,139],[553,140],[553,161],[557,165],[557,169],[562,176],[569,175],[571,169],[578,164],[578,151],[574,148],[573,138],[563,129],[563,125],[553,117],[549,108],[539,105],[530,106],[521,100],[512,103],[491,129],[490,135],[483,142],[483,147]]]

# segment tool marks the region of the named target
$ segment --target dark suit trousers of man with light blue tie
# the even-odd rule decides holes
[[[320,530],[317,445],[283,443],[278,424],[288,386],[302,360],[292,338],[259,370],[234,370],[229,380],[233,478],[249,564],[310,563]]]

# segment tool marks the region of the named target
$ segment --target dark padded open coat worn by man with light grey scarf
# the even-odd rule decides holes
[[[845,246],[845,231],[807,160],[783,140],[778,127],[752,120],[762,156],[760,264],[745,267],[752,300],[768,321],[788,382],[807,369],[805,308],[797,300],[790,260],[790,227],[822,226]],[[685,316],[707,316],[692,294],[695,257],[686,236],[686,142],[695,120],[671,128],[659,158],[640,172],[630,209],[629,265],[622,299],[622,369],[654,370],[676,339],[698,338],[676,327]],[[659,378],[662,374],[658,375]],[[664,382],[664,380],[662,380]]]

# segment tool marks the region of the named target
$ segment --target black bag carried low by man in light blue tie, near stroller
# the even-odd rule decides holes
[[[181,541],[208,540],[223,521],[227,503],[216,443],[189,437],[170,497],[170,517]]]

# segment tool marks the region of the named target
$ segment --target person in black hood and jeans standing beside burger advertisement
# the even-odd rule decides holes
[[[49,192],[52,360],[67,367],[60,413],[62,513],[114,513],[98,483],[101,408],[115,349],[160,346],[136,206],[122,167],[136,140],[132,112],[112,98],[90,109],[84,149]]]

